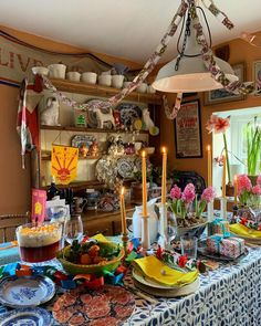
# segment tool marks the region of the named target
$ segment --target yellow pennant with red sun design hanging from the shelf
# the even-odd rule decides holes
[[[69,185],[77,176],[79,148],[69,146],[52,146],[51,173],[56,183]]]

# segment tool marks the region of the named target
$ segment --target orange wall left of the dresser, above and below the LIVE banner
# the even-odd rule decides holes
[[[18,39],[35,46],[64,53],[87,52],[66,44],[53,42],[43,38],[0,27]],[[91,52],[91,51],[90,51]],[[140,65],[105,54],[94,53],[102,60],[114,63],[123,62],[132,69]],[[30,210],[30,161],[27,159],[27,169],[21,168],[20,139],[15,132],[18,111],[18,88],[0,85],[0,214],[24,213]]]

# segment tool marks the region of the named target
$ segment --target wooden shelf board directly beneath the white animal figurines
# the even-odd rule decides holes
[[[133,132],[114,130],[114,129],[101,129],[101,128],[87,128],[87,127],[74,127],[74,126],[44,126],[41,125],[40,129],[44,130],[60,130],[60,132],[77,132],[77,133],[102,133],[102,134],[133,134]],[[147,130],[139,130],[139,134],[148,134]]]

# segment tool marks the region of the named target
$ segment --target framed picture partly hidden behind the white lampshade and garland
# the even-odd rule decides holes
[[[260,62],[261,63],[261,62]],[[246,74],[246,64],[238,63],[233,64],[232,69],[234,71],[234,74],[239,77],[240,82],[244,81],[244,74]],[[229,93],[228,91],[220,88],[220,90],[215,90],[210,92],[205,92],[205,105],[212,105],[212,104],[219,104],[219,103],[225,103],[225,102],[231,102],[231,101],[241,101],[246,98],[246,95],[237,95]]]

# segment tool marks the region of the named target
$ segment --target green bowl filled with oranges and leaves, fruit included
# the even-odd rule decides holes
[[[113,272],[124,257],[124,249],[118,243],[88,240],[73,241],[58,253],[58,260],[71,275]]]

